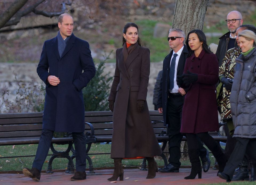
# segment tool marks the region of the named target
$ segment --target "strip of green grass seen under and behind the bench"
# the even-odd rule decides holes
[[[0,157],[7,156],[25,156],[25,155],[35,155],[37,150],[37,144],[31,145],[15,145],[13,146],[0,146]],[[54,147],[57,151],[65,151],[67,145],[57,145],[54,144]],[[95,155],[97,153],[110,153],[111,144],[92,144],[90,149],[90,157],[93,162],[93,167],[113,167],[113,159],[110,158],[110,154],[101,154]],[[49,150],[49,154],[52,154]],[[72,152],[70,152],[70,156]],[[211,165],[214,164],[214,157],[211,157]],[[45,163],[43,164],[42,170],[47,170],[48,162],[51,156],[47,156]],[[0,158],[0,171],[20,171],[24,167],[31,168],[34,157],[17,157],[17,158]],[[156,157],[155,159],[158,163],[158,166],[163,166],[164,162],[161,157]],[[134,160],[122,160],[124,166],[141,166],[143,159],[134,159]],[[52,163],[53,169],[66,169],[68,160],[66,158],[55,158]],[[75,164],[75,159],[74,159]],[[181,165],[190,165],[189,160],[181,160]],[[88,166],[87,166],[88,167]]]

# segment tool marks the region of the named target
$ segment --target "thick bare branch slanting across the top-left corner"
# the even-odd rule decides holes
[[[27,2],[28,0],[16,0],[11,4],[11,6],[3,12],[1,16],[1,21],[0,21],[0,28],[3,27],[19,9],[21,9]]]

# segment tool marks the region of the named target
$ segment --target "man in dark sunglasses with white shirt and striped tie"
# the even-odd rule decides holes
[[[187,46],[184,45],[185,34],[180,29],[170,29],[168,41],[171,52],[163,61],[163,73],[160,81],[157,108],[163,113],[164,124],[167,125],[169,136],[169,164],[159,168],[160,172],[179,172],[181,162],[181,139],[180,132],[181,115],[184,102],[184,95],[188,89],[178,87],[176,78],[183,74],[187,58]],[[207,172],[210,167],[209,152],[203,147],[200,139],[199,151],[202,160],[203,170]]]

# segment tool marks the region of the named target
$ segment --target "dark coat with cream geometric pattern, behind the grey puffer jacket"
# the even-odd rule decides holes
[[[224,76],[226,78],[234,79],[234,68],[235,68],[235,59],[241,54],[240,47],[235,47],[227,51],[226,56],[224,57],[221,66],[219,66],[219,77]],[[223,84],[222,90],[220,91],[218,97],[218,106],[221,108],[221,120],[223,119],[232,119],[229,96],[231,91],[227,90]]]

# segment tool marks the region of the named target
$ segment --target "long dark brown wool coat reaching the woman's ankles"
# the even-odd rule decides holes
[[[122,50],[116,51],[115,76],[108,98],[115,102],[111,158],[161,155],[146,102],[150,51],[137,45],[124,62]],[[137,110],[137,100],[145,100],[142,112]]]

